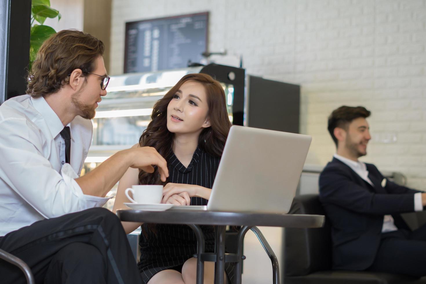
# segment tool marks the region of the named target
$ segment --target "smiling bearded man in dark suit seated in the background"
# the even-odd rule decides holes
[[[371,139],[369,116],[362,106],[341,106],[328,118],[337,152],[320,175],[320,201],[332,227],[333,268],[426,275],[426,226],[412,232],[400,217],[423,210],[426,194],[358,161]]]

